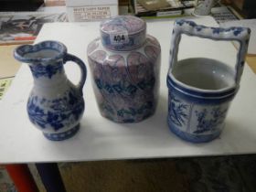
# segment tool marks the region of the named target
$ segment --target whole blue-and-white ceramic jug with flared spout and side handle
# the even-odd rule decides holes
[[[28,63],[34,78],[27,101],[30,122],[53,141],[65,140],[77,133],[84,112],[84,63],[68,54],[67,48],[56,41],[16,48],[15,58]],[[78,87],[66,77],[63,65],[68,60],[76,62],[82,71]]]

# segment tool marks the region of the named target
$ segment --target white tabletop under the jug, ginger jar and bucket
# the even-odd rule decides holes
[[[217,26],[209,17],[197,18],[198,24]],[[84,87],[86,109],[80,132],[63,142],[48,141],[27,118],[27,97],[33,79],[27,64],[16,74],[11,88],[0,102],[0,163],[69,162],[106,159],[184,157],[198,155],[235,155],[256,152],[255,75],[246,65],[240,91],[232,101],[226,127],[218,139],[208,144],[190,144],[168,130],[167,87],[168,53],[173,20],[147,22],[147,32],[158,38],[162,47],[159,103],[155,115],[142,123],[112,123],[101,117],[91,88],[91,73]],[[59,40],[87,63],[86,48],[99,36],[99,23],[47,24],[37,37]],[[230,42],[184,36],[178,59],[206,57],[219,59],[234,67],[237,51]],[[69,79],[77,82],[80,70],[65,65]],[[87,65],[88,67],[88,65]]]

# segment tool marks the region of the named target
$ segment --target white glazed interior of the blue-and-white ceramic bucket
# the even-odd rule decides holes
[[[171,73],[177,82],[192,89],[219,91],[235,86],[234,69],[214,59],[179,60]]]

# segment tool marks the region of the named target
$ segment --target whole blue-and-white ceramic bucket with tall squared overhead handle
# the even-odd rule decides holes
[[[236,40],[240,43],[234,69],[205,58],[177,61],[182,34],[213,40]],[[250,29],[243,27],[205,27],[177,20],[173,30],[170,68],[167,76],[168,125],[180,138],[193,142],[209,142],[219,136],[225,125],[230,101],[240,87]]]

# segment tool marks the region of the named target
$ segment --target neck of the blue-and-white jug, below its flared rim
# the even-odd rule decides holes
[[[53,87],[67,80],[63,68],[63,59],[30,63],[29,68],[32,72],[35,86]]]

